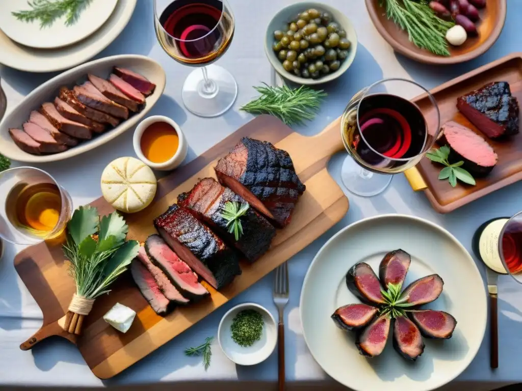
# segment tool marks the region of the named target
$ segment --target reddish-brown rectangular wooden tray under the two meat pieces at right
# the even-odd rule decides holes
[[[499,163],[492,173],[485,178],[477,179],[476,186],[458,182],[458,185],[452,188],[447,180],[438,179],[441,166],[432,163],[428,158],[424,158],[416,167],[408,170],[405,174],[413,190],[424,190],[426,197],[439,213],[454,211],[462,205],[522,179],[522,133],[505,141],[490,140],[457,110],[457,97],[493,81],[507,81],[513,96],[522,105],[522,53],[503,57],[431,91],[441,111],[441,124],[454,120],[469,127],[487,139],[499,155]],[[424,115],[430,115],[428,98],[419,97],[413,101],[421,108]],[[522,126],[522,121],[520,125]]]

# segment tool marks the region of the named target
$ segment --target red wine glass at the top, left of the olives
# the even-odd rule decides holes
[[[196,69],[181,96],[185,107],[201,117],[226,112],[238,96],[238,84],[224,68],[210,65],[229,48],[234,15],[227,0],[154,0],[154,25],[163,50]]]

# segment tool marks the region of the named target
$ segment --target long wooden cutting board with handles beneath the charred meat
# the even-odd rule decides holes
[[[116,282],[109,295],[96,300],[86,318],[82,335],[76,337],[65,333],[56,323],[66,313],[75,291],[73,279],[67,275],[67,263],[60,243],[47,242],[29,247],[16,256],[15,268],[42,309],[43,326],[20,348],[31,349],[42,339],[58,335],[78,346],[94,375],[102,379],[112,377],[263,278],[346,214],[348,199],[326,168],[330,156],[343,150],[339,120],[317,136],[305,137],[274,117],[260,116],[196,160],[160,179],[155,202],[142,212],[125,216],[129,225],[128,238],[144,241],[155,233],[152,220],[165,212],[176,201],[179,193],[192,189],[198,178],[215,177],[213,167],[217,160],[245,136],[269,141],[277,148],[288,151],[296,172],[306,185],[306,192],[296,206],[292,222],[278,232],[270,250],[262,258],[252,265],[242,263],[243,274],[219,292],[206,285],[211,293],[210,298],[176,309],[165,317],[152,311],[134,285],[132,277],[126,273]],[[98,207],[100,214],[113,212],[103,198],[91,205]],[[126,334],[117,332],[102,319],[116,302],[137,312]]]

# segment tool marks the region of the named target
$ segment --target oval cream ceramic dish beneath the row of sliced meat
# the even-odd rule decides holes
[[[122,123],[114,129],[106,130],[101,135],[94,136],[89,141],[80,142],[77,146],[72,146],[65,152],[52,155],[31,155],[18,148],[9,136],[9,128],[20,128],[22,124],[28,120],[32,110],[38,110],[44,102],[53,102],[55,96],[58,95],[60,87],[65,85],[72,88],[75,84],[84,82],[87,79],[86,76],[88,73],[107,78],[111,74],[114,66],[131,69],[156,84],[154,93],[147,96],[145,108],[141,112],[122,121]],[[19,162],[44,163],[64,160],[90,151],[135,126],[138,121],[150,111],[152,106],[158,102],[158,99],[160,99],[165,89],[166,80],[165,71],[155,60],[146,56],[131,54],[100,58],[65,71],[63,74],[40,85],[40,87],[27,95],[13,111],[5,116],[0,123],[0,153]]]

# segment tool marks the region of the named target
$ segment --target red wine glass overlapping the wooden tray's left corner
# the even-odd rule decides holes
[[[416,103],[409,100],[418,95]],[[393,174],[420,162],[440,132],[437,102],[422,85],[398,78],[377,81],[355,94],[341,117],[350,154],[341,169],[343,184],[363,197],[383,192]]]

